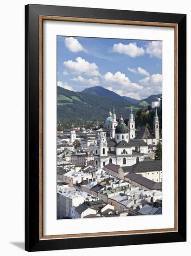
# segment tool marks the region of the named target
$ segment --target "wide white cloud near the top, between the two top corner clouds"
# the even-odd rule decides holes
[[[137,57],[145,54],[145,50],[143,47],[138,47],[136,43],[129,44],[114,44],[112,47],[113,52],[117,52],[119,54],[126,54],[130,57]]]

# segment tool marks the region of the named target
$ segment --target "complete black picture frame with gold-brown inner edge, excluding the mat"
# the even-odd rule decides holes
[[[44,20],[174,28],[175,155],[173,229],[43,234]],[[186,241],[186,14],[25,6],[25,250],[42,251]]]

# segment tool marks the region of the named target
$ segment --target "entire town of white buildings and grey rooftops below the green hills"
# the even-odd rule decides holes
[[[162,214],[159,104],[153,130],[112,108],[102,127],[57,131],[57,219]]]

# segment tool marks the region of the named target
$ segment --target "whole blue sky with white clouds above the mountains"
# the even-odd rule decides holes
[[[162,92],[162,42],[57,36],[57,86],[102,86],[144,99]]]

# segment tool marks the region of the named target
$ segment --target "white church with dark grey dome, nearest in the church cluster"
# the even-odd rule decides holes
[[[129,125],[134,127],[134,117],[130,114]],[[143,140],[129,140],[129,133],[134,136],[134,128],[129,132],[122,115],[115,127],[115,138],[107,138],[104,129],[97,131],[97,143],[94,145],[94,159],[97,168],[103,168],[108,163],[120,166],[130,166],[144,160],[148,153],[148,145]],[[132,143],[134,141],[134,143]]]

